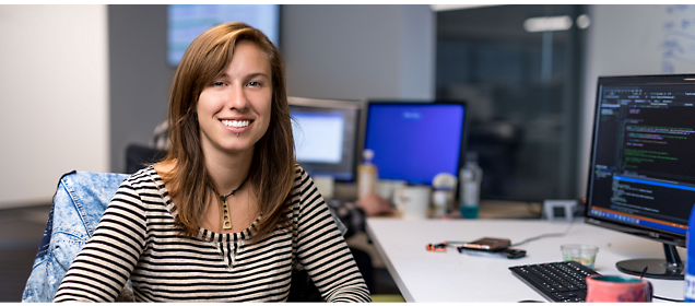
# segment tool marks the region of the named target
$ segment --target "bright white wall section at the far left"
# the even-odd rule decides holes
[[[0,5],[0,208],[108,169],[106,5]]]

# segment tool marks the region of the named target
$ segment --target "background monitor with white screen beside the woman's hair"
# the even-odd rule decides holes
[[[297,163],[311,176],[355,179],[362,102],[290,97]]]

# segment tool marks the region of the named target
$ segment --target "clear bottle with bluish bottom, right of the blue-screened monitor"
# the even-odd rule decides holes
[[[476,219],[480,205],[480,184],[483,180],[483,169],[478,165],[478,153],[466,152],[466,164],[459,177],[461,179],[461,215],[466,219]]]

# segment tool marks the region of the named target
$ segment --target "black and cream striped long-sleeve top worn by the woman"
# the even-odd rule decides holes
[[[138,302],[283,302],[298,263],[328,302],[369,302],[369,292],[328,207],[296,168],[290,231],[249,244],[240,233],[200,228],[184,237],[162,177],[146,167],[126,179],[54,302],[113,302],[128,279]]]

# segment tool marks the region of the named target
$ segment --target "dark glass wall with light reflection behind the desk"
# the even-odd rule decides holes
[[[483,199],[576,199],[585,5],[437,12],[437,98],[464,99]]]

